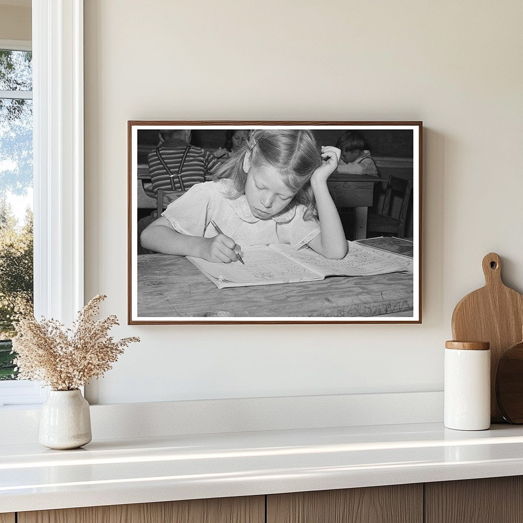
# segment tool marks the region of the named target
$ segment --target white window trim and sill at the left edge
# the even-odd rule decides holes
[[[84,304],[83,0],[32,0],[31,47],[35,316],[70,325]],[[0,384],[0,406],[46,396],[38,383]]]

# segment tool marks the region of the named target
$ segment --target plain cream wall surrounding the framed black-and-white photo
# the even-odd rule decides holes
[[[423,324],[122,326],[100,403],[442,389],[495,251],[523,291],[523,4],[85,0],[86,298],[125,323],[127,120],[423,120]],[[94,394],[94,389],[92,389]]]

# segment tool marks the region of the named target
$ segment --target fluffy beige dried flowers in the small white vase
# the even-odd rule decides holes
[[[71,391],[111,369],[123,349],[140,338],[115,341],[109,330],[119,325],[117,317],[95,320],[106,298],[98,294],[90,300],[78,312],[72,329],[65,330],[53,319],[42,317],[38,322],[33,315],[20,316],[13,338],[18,379],[41,381],[56,391]]]

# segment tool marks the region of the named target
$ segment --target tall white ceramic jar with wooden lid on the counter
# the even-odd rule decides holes
[[[491,420],[491,351],[488,342],[445,343],[445,426],[485,430]]]

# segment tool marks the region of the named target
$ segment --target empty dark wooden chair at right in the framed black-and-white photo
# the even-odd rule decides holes
[[[412,180],[404,180],[390,176],[385,189],[385,198],[379,214],[369,214],[367,219],[367,237],[369,232],[381,233],[385,236],[405,237],[405,220],[408,205],[412,194]],[[398,195],[402,199],[400,214],[397,218],[391,216],[393,196]]]

